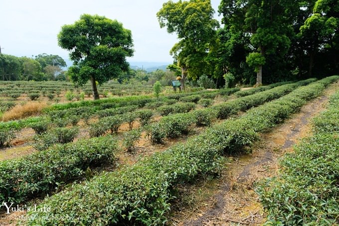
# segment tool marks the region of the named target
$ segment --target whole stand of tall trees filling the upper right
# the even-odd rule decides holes
[[[338,0],[221,0],[218,12],[221,27],[210,0],[170,0],[158,12],[179,39],[170,53],[182,83],[207,74],[259,86],[339,73]]]

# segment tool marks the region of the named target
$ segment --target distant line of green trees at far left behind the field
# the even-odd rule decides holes
[[[0,80],[66,80],[66,62],[58,55],[39,54],[34,58],[0,54]]]

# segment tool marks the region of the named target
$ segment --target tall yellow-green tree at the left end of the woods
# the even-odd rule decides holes
[[[215,43],[219,26],[213,13],[210,0],[170,0],[157,13],[160,27],[166,26],[179,39],[170,54],[181,68],[181,89],[187,76],[196,78],[207,66],[206,56]]]

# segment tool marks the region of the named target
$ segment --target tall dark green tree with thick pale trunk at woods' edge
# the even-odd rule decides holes
[[[287,54],[293,33],[291,24],[298,8],[296,0],[221,1],[219,12],[224,15],[225,26],[250,37],[248,47],[252,51],[246,62],[257,72],[257,86],[262,84],[263,66],[279,61],[272,61],[272,57]]]

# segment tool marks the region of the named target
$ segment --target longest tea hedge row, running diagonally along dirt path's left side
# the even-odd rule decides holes
[[[339,77],[333,77],[333,80]],[[237,120],[227,120],[203,134],[178,144],[165,152],[103,173],[84,184],[76,185],[46,198],[40,206],[49,213],[28,213],[28,225],[163,225],[170,211],[173,188],[196,177],[219,173],[224,152],[250,144],[262,132],[288,117],[305,101],[324,90],[324,80],[301,87],[291,94]],[[283,111],[282,111],[283,109]],[[62,204],[62,205],[60,205]],[[81,211],[79,211],[81,205]]]

